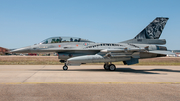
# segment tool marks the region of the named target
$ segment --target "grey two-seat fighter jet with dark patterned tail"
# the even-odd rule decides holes
[[[56,52],[63,70],[68,66],[85,63],[104,63],[104,69],[114,71],[112,62],[124,65],[139,63],[139,59],[164,57],[174,54],[167,51],[165,39],[159,39],[169,18],[157,17],[133,39],[119,43],[95,43],[77,37],[51,37],[39,44],[15,49],[13,53]]]

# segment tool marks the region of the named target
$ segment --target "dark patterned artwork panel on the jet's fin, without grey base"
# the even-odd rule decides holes
[[[144,28],[134,39],[159,39],[169,18],[157,17]]]

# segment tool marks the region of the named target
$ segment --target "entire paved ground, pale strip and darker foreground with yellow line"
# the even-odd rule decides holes
[[[0,101],[180,100],[180,66],[0,65]]]

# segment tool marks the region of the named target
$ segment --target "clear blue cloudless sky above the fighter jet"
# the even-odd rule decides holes
[[[71,36],[116,43],[134,38],[156,17],[169,20],[160,39],[180,50],[180,0],[0,0],[0,47],[25,47]]]

